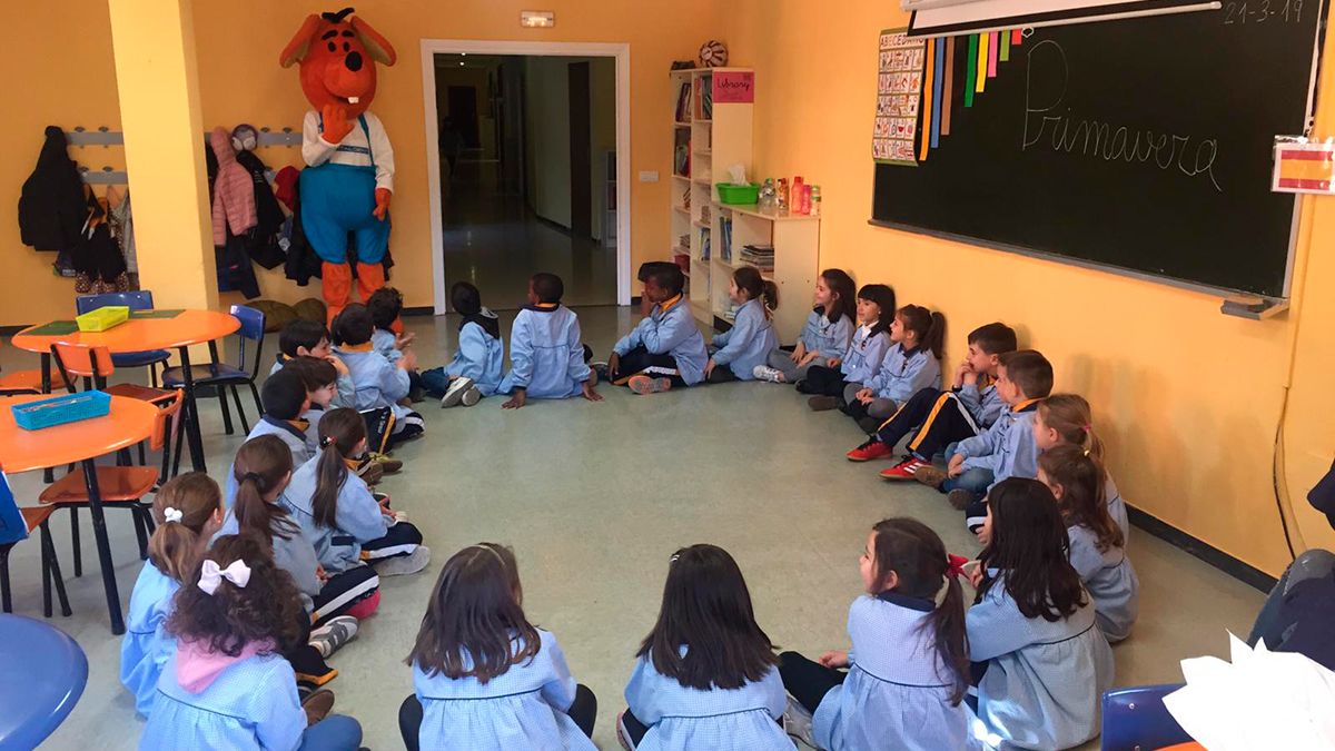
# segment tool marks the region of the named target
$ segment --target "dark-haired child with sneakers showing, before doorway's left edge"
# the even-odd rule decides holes
[[[482,305],[482,293],[467,282],[450,287],[450,307],[463,317],[459,321],[459,346],[445,367],[422,373],[422,382],[441,406],[473,406],[501,386],[505,341],[501,321]]]

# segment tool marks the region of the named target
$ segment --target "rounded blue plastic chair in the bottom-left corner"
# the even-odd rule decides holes
[[[69,716],[88,657],[59,628],[0,615],[0,748],[36,748]]]

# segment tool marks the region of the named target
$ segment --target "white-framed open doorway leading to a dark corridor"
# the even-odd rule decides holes
[[[565,281],[569,305],[627,305],[626,45],[422,51],[435,311],[459,281],[493,309],[518,307],[537,271]]]

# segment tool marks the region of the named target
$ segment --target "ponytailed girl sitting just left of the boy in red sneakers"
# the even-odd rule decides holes
[[[868,433],[922,389],[941,388],[945,317],[921,305],[905,305],[890,323],[890,349],[861,389],[844,388],[844,413]]]

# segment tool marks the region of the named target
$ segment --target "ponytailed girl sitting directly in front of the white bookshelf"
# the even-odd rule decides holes
[[[733,327],[714,337],[709,346],[712,357],[705,363],[705,380],[710,384],[753,381],[756,367],[765,365],[770,350],[778,349],[773,322],[778,307],[774,282],[762,278],[756,267],[742,266],[733,271],[728,297],[738,306],[737,315]]]

